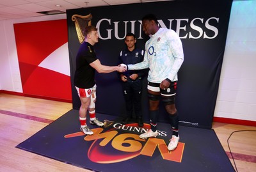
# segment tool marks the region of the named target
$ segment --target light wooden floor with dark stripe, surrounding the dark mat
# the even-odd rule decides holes
[[[70,103],[0,93],[0,171],[89,171],[15,148],[70,109]],[[213,123],[212,129],[228,157],[228,137],[246,130],[234,132],[229,145],[239,172],[256,171],[256,127]]]

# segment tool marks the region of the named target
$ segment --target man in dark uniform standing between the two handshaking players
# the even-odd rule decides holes
[[[136,36],[133,33],[127,33],[125,36],[125,44],[127,49],[120,52],[120,63],[136,64],[143,61],[144,51],[135,47]],[[138,126],[143,127],[143,119],[141,113],[141,90],[142,77],[148,73],[148,70],[127,70],[120,73],[122,79],[122,88],[125,97],[126,116],[122,123],[127,124],[132,118],[132,112],[136,114]]]

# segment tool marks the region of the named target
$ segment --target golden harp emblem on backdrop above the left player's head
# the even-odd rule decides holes
[[[76,33],[80,43],[84,41],[83,31],[86,26],[90,26],[92,24],[92,14],[88,15],[72,15],[72,21],[75,22]]]

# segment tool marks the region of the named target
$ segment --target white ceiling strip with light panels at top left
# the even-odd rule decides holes
[[[58,10],[88,8],[92,6],[109,6],[115,4],[147,3],[157,0],[0,0],[0,20],[36,17]],[[158,0],[168,1],[168,0]],[[56,5],[60,5],[59,7]]]

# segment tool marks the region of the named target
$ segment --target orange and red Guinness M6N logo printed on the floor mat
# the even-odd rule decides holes
[[[149,124],[144,124],[141,128],[137,123],[123,125],[104,120],[104,127],[92,129],[94,134],[91,136],[76,132],[64,137],[72,139],[72,137],[85,136],[84,141],[92,143],[88,149],[88,159],[100,164],[122,162],[137,156],[152,157],[156,149],[159,150],[163,160],[181,162],[185,144],[179,142],[177,148],[169,152],[167,149],[169,139],[165,131],[157,130],[156,138],[140,139],[139,135],[149,129]]]

